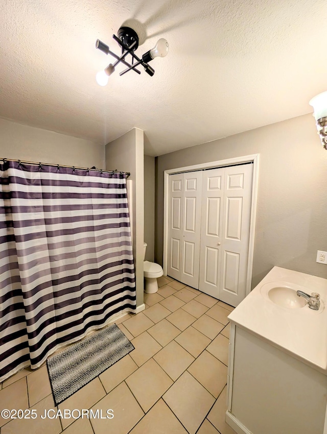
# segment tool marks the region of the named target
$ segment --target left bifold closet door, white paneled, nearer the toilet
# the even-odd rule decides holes
[[[199,287],[202,173],[169,177],[168,275]]]

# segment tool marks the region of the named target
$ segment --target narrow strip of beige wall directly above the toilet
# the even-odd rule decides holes
[[[144,156],[144,240],[147,243],[145,260],[154,261],[154,157]]]

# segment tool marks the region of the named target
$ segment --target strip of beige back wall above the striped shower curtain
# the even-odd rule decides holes
[[[0,158],[104,169],[104,154],[102,144],[0,119]]]

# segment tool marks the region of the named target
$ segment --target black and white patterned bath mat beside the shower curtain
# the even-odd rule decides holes
[[[104,327],[46,361],[55,405],[134,349],[116,324]]]

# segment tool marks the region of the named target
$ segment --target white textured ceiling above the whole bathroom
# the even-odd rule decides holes
[[[107,143],[133,127],[161,155],[312,111],[327,90],[323,0],[2,0],[0,117]],[[158,38],[165,58],[95,81],[112,62],[97,38],[123,23],[141,56]],[[314,122],[314,121],[313,121]]]

